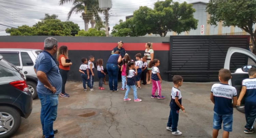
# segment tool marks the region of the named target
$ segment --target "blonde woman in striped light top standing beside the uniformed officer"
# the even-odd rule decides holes
[[[153,61],[154,59],[154,50],[153,50],[153,43],[151,42],[147,42],[146,45],[146,50],[145,50],[145,54],[144,56],[147,57],[147,65],[150,61]],[[147,84],[151,84],[151,72],[152,72],[152,68],[147,68],[147,75],[146,75],[146,82]],[[149,81],[148,81],[148,77],[149,77]]]

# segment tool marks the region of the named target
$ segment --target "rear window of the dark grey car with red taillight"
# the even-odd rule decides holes
[[[2,59],[0,61],[0,78],[16,75],[20,76],[20,73],[15,68],[13,68],[8,62]]]

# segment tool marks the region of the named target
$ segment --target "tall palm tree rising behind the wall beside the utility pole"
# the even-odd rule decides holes
[[[96,21],[101,21],[99,13],[101,10],[99,8],[98,0],[60,0],[60,5],[65,3],[72,2],[73,7],[68,13],[68,20],[70,19],[73,13],[78,14],[82,13],[80,17],[84,20],[85,31],[88,31],[88,25],[91,21],[91,28],[94,28]]]

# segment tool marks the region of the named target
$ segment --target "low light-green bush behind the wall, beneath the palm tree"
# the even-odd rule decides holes
[[[88,31],[81,30],[75,36],[106,36],[105,30],[90,28]]]

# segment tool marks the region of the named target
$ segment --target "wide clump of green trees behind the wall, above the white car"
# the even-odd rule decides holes
[[[75,36],[80,31],[78,24],[71,21],[62,22],[56,15],[45,14],[45,17],[35,23],[32,27],[22,25],[21,27],[7,28],[6,33],[10,35],[43,35],[43,36]]]

